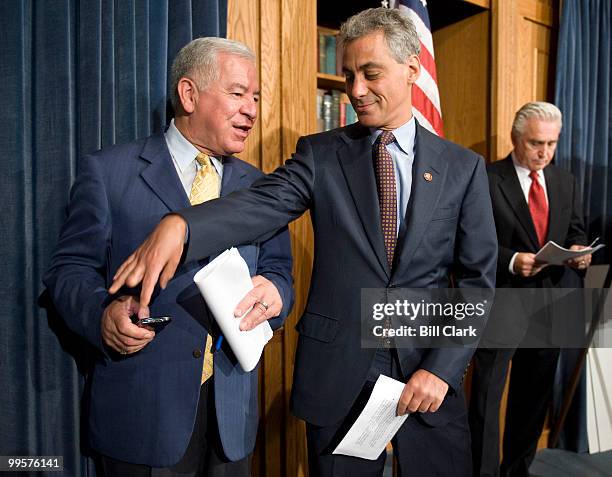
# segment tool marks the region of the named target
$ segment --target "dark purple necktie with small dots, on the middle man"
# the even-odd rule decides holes
[[[397,241],[397,192],[395,185],[395,170],[393,159],[387,150],[387,145],[395,141],[393,133],[383,131],[374,143],[374,172],[380,206],[380,221],[382,225],[387,261],[391,267],[393,253]]]

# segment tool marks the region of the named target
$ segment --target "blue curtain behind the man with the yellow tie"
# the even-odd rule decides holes
[[[41,276],[78,158],[161,130],[176,52],[226,22],[227,0],[0,2],[0,455],[63,456],[63,475],[93,474],[90,355],[37,303]]]

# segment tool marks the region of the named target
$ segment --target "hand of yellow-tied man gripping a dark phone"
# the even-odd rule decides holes
[[[122,296],[111,302],[102,314],[102,339],[118,353],[136,353],[155,337],[153,331],[132,323],[130,316],[135,313],[144,318],[149,309],[140,306],[138,300],[132,296]]]

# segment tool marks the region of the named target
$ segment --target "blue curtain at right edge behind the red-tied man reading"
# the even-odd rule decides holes
[[[556,163],[571,171],[582,191],[588,236],[607,244],[594,263],[612,258],[612,139],[610,95],[612,1],[563,0],[559,29],[555,103],[563,112]],[[564,389],[576,362],[575,350],[563,350],[557,389]],[[560,393],[555,405],[560,408]],[[584,452],[586,388],[584,376],[566,421],[560,446]]]

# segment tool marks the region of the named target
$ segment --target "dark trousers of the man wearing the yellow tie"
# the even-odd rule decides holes
[[[251,456],[231,462],[223,453],[215,412],[213,379],[200,390],[193,434],[181,460],[166,468],[131,464],[100,456],[102,477],[248,477]]]

